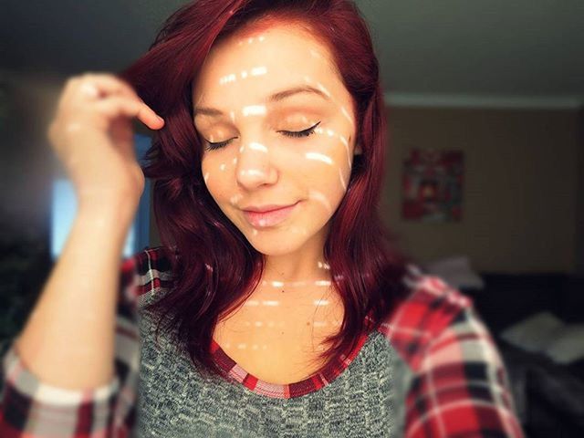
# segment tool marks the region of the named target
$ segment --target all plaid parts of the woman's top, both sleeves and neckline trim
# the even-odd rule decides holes
[[[388,347],[396,349],[412,370],[402,401],[403,436],[523,438],[505,366],[472,300],[442,279],[410,267],[404,278],[410,296],[379,328]],[[170,286],[160,275],[169,270],[168,260],[157,248],[145,249],[121,264],[116,372],[100,388],[69,391],[38,381],[11,347],[3,358],[0,436],[129,437],[136,421],[138,303],[147,292]],[[318,391],[334,380],[366,339],[363,334],[356,349],[324,373],[289,385],[260,381],[214,341],[212,349],[230,380],[259,394],[289,398]]]

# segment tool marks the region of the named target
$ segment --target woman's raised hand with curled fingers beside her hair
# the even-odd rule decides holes
[[[68,79],[47,137],[81,206],[118,208],[123,203],[133,214],[144,190],[134,151],[134,117],[151,130],[164,126],[130,85],[112,74],[85,73]]]

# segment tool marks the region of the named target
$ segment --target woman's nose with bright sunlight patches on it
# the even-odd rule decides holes
[[[270,160],[269,147],[259,141],[246,141],[239,148],[235,164],[237,183],[246,190],[277,181],[277,172]]]

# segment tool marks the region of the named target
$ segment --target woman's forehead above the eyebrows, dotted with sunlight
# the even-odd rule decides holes
[[[193,84],[193,104],[233,107],[303,84],[342,93],[326,45],[298,25],[246,29],[212,47]]]

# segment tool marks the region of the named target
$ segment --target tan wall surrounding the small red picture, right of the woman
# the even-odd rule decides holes
[[[422,263],[468,255],[474,269],[574,272],[577,112],[393,108],[382,212]],[[401,162],[412,148],[464,151],[463,220],[401,220]],[[581,162],[581,160],[580,160]],[[579,181],[579,191],[577,183]],[[582,204],[579,202],[582,223]],[[582,236],[579,252],[582,254]]]

